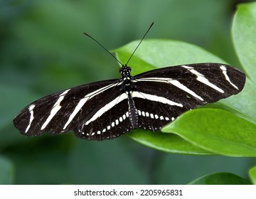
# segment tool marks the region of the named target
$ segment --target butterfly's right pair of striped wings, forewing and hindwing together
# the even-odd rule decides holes
[[[136,75],[134,85],[138,126],[155,131],[188,109],[237,94],[245,74],[219,63],[178,65]]]

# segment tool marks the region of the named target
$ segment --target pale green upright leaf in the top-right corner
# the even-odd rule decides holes
[[[248,77],[256,82],[256,3],[240,4],[235,13],[232,36],[238,58]]]

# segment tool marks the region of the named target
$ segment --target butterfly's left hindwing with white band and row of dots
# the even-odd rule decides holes
[[[117,136],[131,131],[129,122],[128,102],[125,93],[121,97],[105,103],[105,107],[97,109],[99,117],[84,120],[75,128],[75,136],[80,139],[103,140],[114,139]],[[102,112],[102,114],[98,114]]]

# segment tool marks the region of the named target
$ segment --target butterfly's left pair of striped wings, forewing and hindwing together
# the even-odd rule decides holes
[[[56,92],[22,109],[14,126],[26,136],[74,129],[82,139],[112,139],[131,129],[121,87],[119,80],[106,80]]]

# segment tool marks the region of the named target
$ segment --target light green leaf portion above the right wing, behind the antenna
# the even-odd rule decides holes
[[[138,43],[139,41],[133,41],[113,51],[122,63],[127,63]],[[133,74],[137,74],[149,70],[150,65],[151,69],[155,69],[171,65],[206,62],[225,63],[224,60],[207,50],[190,43],[166,39],[146,39],[133,55],[129,65],[132,66],[132,71],[135,71]],[[146,68],[144,68],[145,63]]]

